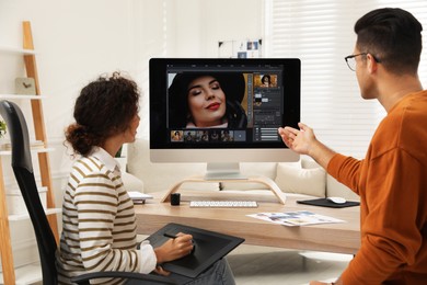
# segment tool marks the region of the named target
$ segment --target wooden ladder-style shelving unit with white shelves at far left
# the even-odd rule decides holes
[[[45,132],[45,123],[43,116],[42,100],[44,96],[39,92],[39,83],[35,60],[35,50],[33,45],[33,36],[31,23],[23,22],[23,48],[15,48],[0,45],[0,53],[11,56],[23,56],[25,62],[26,76],[35,81],[36,94],[0,94],[0,100],[27,100],[31,102],[32,121],[34,124],[35,139],[43,141],[44,147],[32,149],[33,156],[37,156],[41,184],[46,187],[46,215],[48,216],[49,225],[54,231],[58,242],[58,226],[56,215],[61,212],[55,207],[55,195],[51,186],[51,174],[49,166],[48,152],[51,148],[47,148],[47,138]],[[30,117],[26,117],[27,124],[31,123]],[[0,150],[0,258],[2,272],[0,273],[0,282],[2,284],[34,284],[42,281],[42,270],[39,263],[26,264],[24,266],[14,266],[13,250],[11,244],[10,223],[30,219],[28,214],[9,215],[8,205],[5,203],[7,190],[3,179],[2,157],[10,156],[10,150]]]

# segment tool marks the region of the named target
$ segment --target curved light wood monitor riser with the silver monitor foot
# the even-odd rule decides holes
[[[239,163],[208,163],[207,166],[207,172],[205,176],[193,176],[193,178],[186,178],[181,180],[180,182],[175,183],[168,193],[163,196],[161,202],[170,202],[171,201],[171,194],[177,192],[177,190],[181,187],[182,184],[186,182],[200,182],[200,183],[207,183],[207,182],[226,182],[233,183],[233,182],[247,182],[247,183],[261,183],[266,186],[275,194],[275,196],[278,198],[278,201],[285,205],[286,203],[286,195],[279,186],[277,186],[276,182],[274,182],[272,179],[267,176],[244,176],[242,173],[240,173],[240,167]]]

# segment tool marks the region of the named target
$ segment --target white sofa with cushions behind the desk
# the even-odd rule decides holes
[[[276,182],[285,193],[305,194],[315,197],[342,196],[358,201],[358,196],[348,187],[326,174],[313,160],[301,159],[299,162],[241,163],[241,172],[247,176],[265,175]],[[149,141],[137,139],[127,146],[126,171],[124,183],[128,190],[145,193],[165,191],[182,179],[203,175],[206,163],[152,163],[149,155]],[[184,183],[181,189],[212,191],[265,191],[259,183]]]

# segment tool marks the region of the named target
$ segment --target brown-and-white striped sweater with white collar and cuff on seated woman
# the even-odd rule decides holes
[[[149,244],[137,250],[135,220],[134,204],[115,160],[101,148],[78,160],[64,194],[59,283],[70,284],[71,276],[88,272],[152,271],[155,254]],[[93,284],[99,283],[120,281],[104,278]]]

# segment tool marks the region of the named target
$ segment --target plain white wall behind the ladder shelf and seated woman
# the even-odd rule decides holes
[[[261,38],[263,0],[0,0],[0,46],[22,47],[21,23],[32,23],[57,205],[71,166],[64,129],[83,86],[128,72],[143,93],[139,136],[148,137],[149,58],[216,57],[218,41]],[[0,93],[13,93],[23,69],[21,57],[0,54]]]

